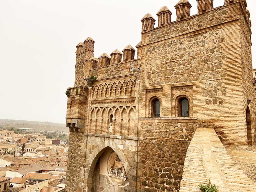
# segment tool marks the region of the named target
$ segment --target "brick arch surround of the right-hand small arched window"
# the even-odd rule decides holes
[[[179,111],[179,99],[186,97],[188,99],[188,114],[189,116],[193,116],[193,95],[186,92],[186,91],[180,91],[176,93],[173,96],[172,99],[172,114],[175,115],[175,117],[179,117],[178,111]]]

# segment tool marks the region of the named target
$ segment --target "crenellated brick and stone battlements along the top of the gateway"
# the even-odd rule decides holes
[[[197,3],[198,14],[190,16],[191,4],[188,0],[180,0],[175,5],[177,20],[174,22],[171,22],[172,12],[166,6],[163,6],[156,13],[158,17],[158,27],[156,28],[154,28],[156,20],[150,13],[147,13],[141,19],[142,41],[136,45],[137,58],[140,59],[142,57],[142,47],[145,45],[214,27],[221,23],[239,19],[240,15],[244,15],[249,28],[251,27],[250,12],[246,9],[246,0],[226,0],[225,5],[217,8],[213,8],[213,0],[197,0]],[[231,9],[229,5],[233,5]],[[98,78],[113,77],[115,75],[118,76],[118,74],[131,74],[129,68],[135,66],[122,64],[131,63],[135,58],[135,49],[131,45],[126,46],[122,51],[123,53],[116,49],[110,54],[110,57],[108,54],[103,53],[99,58],[95,58],[93,55],[94,42],[91,37],[88,37],[84,42],[80,42],[76,46],[76,86],[83,84],[82,77],[89,77],[92,74]],[[112,72],[109,75],[111,70],[106,70],[107,66],[121,73]]]

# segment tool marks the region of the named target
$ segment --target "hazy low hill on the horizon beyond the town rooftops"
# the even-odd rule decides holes
[[[22,128],[23,124],[24,124],[24,128],[32,128],[36,130],[46,130],[46,131],[68,132],[68,128],[66,127],[66,124],[61,124],[61,123],[0,119],[0,127],[12,126],[14,128]]]

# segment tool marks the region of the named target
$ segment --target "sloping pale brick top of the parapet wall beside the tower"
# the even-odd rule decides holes
[[[228,154],[216,132],[198,128],[188,147],[179,192],[200,192],[199,183],[207,179],[219,187],[218,192],[256,192],[256,185]]]

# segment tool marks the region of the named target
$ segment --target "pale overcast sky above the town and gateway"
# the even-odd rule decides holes
[[[95,40],[94,57],[141,41],[141,19],[178,0],[6,0],[0,2],[0,119],[65,123],[66,88],[74,86],[76,45]],[[189,0],[191,15],[196,0]],[[215,0],[214,7],[224,4]],[[252,20],[255,3],[247,0]],[[254,25],[255,21],[255,25]],[[157,21],[155,24],[157,27]],[[254,46],[252,54],[255,55]],[[256,63],[254,62],[254,68]]]

